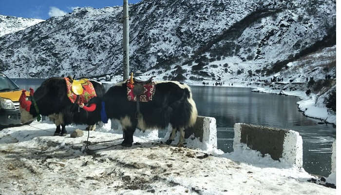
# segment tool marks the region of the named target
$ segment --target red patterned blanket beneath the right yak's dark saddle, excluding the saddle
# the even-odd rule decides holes
[[[128,81],[129,83],[129,81]],[[128,101],[136,101],[136,95],[133,93],[133,87],[128,87],[129,84],[127,85],[127,98]],[[139,101],[140,102],[148,102],[152,101],[152,98],[155,93],[155,83],[145,83],[143,84],[143,90],[144,92],[140,95]]]

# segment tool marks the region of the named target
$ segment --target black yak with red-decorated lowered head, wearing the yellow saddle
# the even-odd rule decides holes
[[[94,80],[89,81],[95,88],[96,96],[102,98],[105,93],[103,85]],[[31,100],[28,100],[23,92],[20,97],[21,122],[31,121],[38,115],[48,116],[57,125],[54,135],[61,136],[65,136],[67,133],[65,125],[71,123],[95,125],[97,122],[95,116],[100,115],[98,109],[93,109],[95,104],[80,108],[76,102],[72,103],[67,96],[66,82],[64,78],[46,79],[36,92],[31,91],[31,95],[33,94],[33,98],[29,98]],[[90,110],[94,111],[90,112]],[[92,128],[92,126],[88,128]]]

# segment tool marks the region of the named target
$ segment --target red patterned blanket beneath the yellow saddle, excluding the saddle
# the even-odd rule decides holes
[[[72,103],[77,103],[81,107],[84,106],[91,98],[96,97],[96,91],[94,88],[93,83],[91,83],[89,80],[82,84],[83,86],[83,93],[78,96],[73,93],[72,91],[72,82],[70,82],[69,78],[64,78],[66,81],[66,93],[67,97],[70,99]]]

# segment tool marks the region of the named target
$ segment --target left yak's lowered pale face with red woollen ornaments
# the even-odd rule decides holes
[[[30,88],[30,97],[33,97],[34,91]],[[35,112],[34,105],[31,100],[26,96],[26,90],[22,90],[21,96],[19,98],[20,103],[20,115],[21,122],[26,123],[32,121],[35,117],[37,117],[37,113]]]

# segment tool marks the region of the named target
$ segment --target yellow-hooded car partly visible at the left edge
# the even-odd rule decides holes
[[[19,86],[0,72],[0,127],[21,124],[19,112],[20,95],[21,89]],[[26,92],[26,95],[29,95],[29,92]]]

